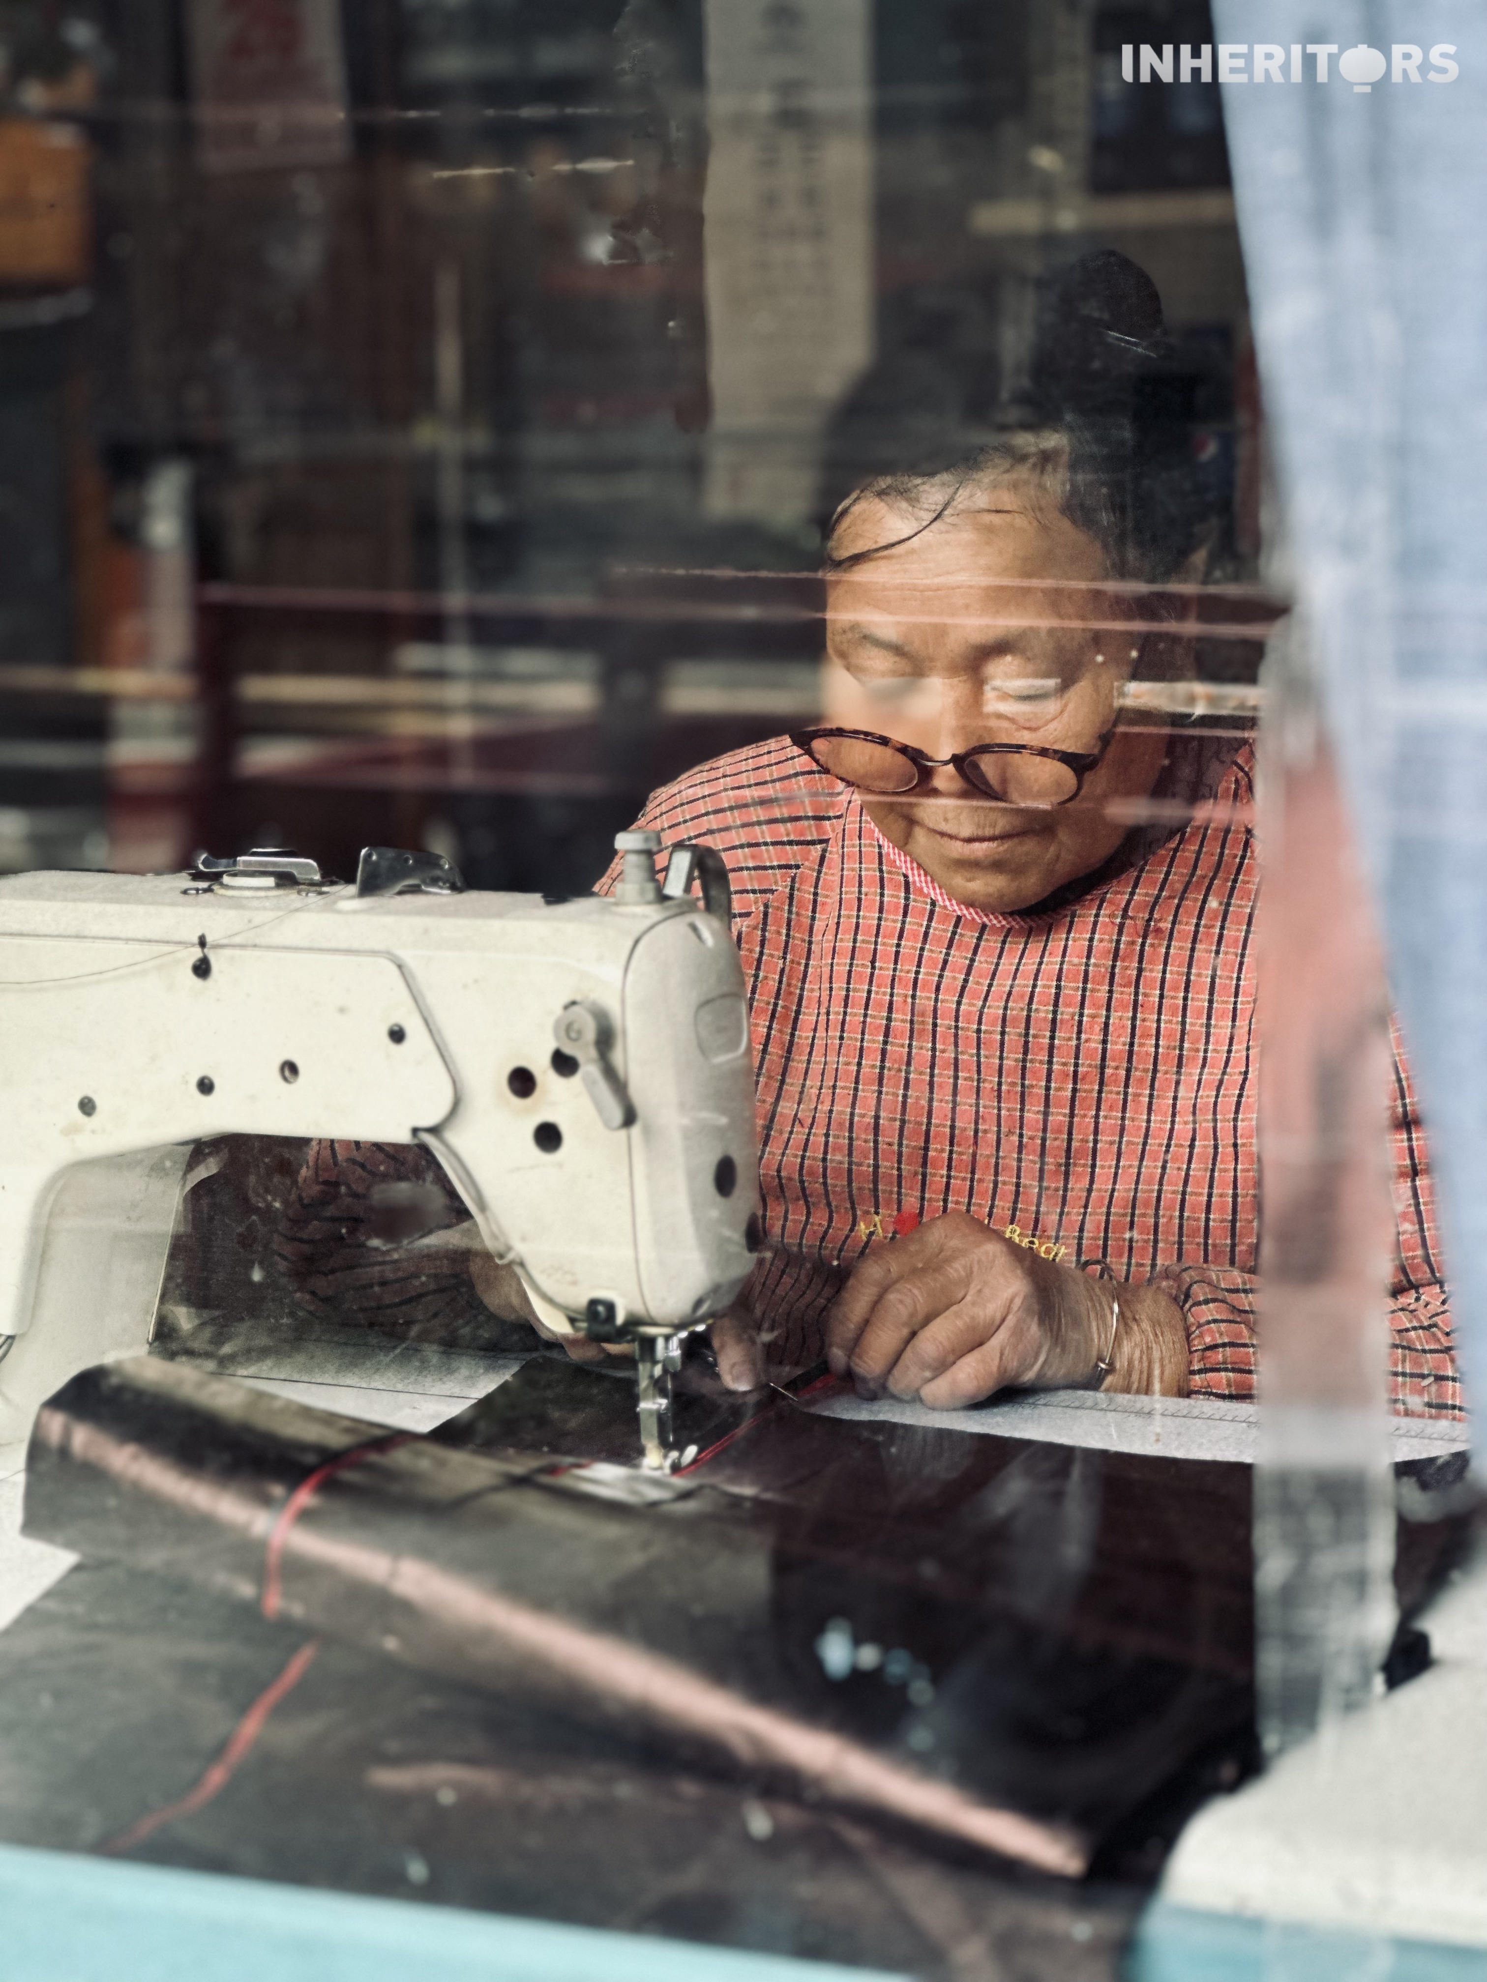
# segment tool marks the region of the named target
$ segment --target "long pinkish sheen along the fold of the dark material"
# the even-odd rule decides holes
[[[174,1461],[97,1425],[77,1423],[61,1411],[44,1409],[36,1435],[81,1465],[242,1536],[266,1542],[278,1524],[278,1508],[252,1500],[236,1486],[196,1479]],[[1088,1851],[1065,1825],[977,1804],[954,1784],[872,1754],[843,1734],[757,1707],[662,1653],[553,1617],[514,1597],[474,1590],[414,1556],[393,1556],[315,1534],[299,1520],[284,1534],[282,1560],[333,1570],[347,1582],[381,1590],[436,1617],[474,1641],[470,1649],[476,1661],[482,1653],[488,1657],[492,1645],[514,1653],[529,1667],[529,1679],[559,1701],[567,1685],[595,1705],[629,1708],[658,1732],[700,1736],[740,1768],[787,1770],[805,1788],[835,1802],[908,1819],[1041,1871],[1079,1877],[1087,1869]],[[333,1619],[329,1623],[333,1627]],[[468,1669],[460,1677],[468,1677]]]

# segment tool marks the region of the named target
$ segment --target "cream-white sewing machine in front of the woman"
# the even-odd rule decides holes
[[[617,846],[613,898],[395,848],[0,880],[0,1451],[149,1344],[192,1144],[274,1134],[424,1144],[545,1328],[634,1346],[674,1465],[680,1338],[759,1243],[747,1007],[722,858]]]

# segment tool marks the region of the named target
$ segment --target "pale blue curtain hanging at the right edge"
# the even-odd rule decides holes
[[[1245,73],[1257,42],[1287,57],[1221,85],[1255,349],[1471,1401],[1487,1385],[1487,22],[1467,0],[1213,0],[1213,30],[1245,46]],[[1336,50],[1324,83],[1309,44]],[[1370,87],[1354,77],[1380,59],[1348,59],[1358,44],[1384,61]]]

